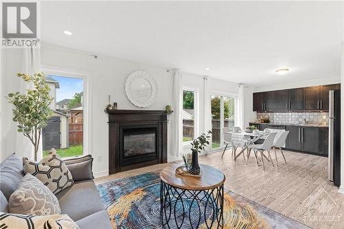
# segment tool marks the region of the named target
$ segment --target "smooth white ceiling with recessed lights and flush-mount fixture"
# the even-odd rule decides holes
[[[45,1],[41,12],[46,43],[237,83],[341,71],[341,1]]]

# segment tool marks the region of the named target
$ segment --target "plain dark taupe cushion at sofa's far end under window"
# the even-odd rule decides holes
[[[92,173],[93,158],[91,155],[65,160],[64,162],[70,173],[72,173],[74,182],[84,179],[94,179]]]

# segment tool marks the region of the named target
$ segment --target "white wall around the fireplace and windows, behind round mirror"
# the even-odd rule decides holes
[[[6,51],[1,56],[3,60],[1,71],[5,73],[1,74],[1,160],[13,153],[16,148],[17,128],[16,124],[12,122],[12,107],[4,99],[4,96],[19,90],[20,80],[16,73],[21,69],[21,50]],[[118,102],[118,109],[141,109],[132,105],[125,95],[125,80],[131,72],[142,69],[153,76],[158,83],[158,96],[155,103],[147,109],[164,109],[166,105],[173,104],[174,71],[167,72],[164,67],[144,65],[103,55],[94,58],[89,53],[47,44],[42,45],[41,64],[47,69],[61,69],[88,75],[87,81],[91,98],[88,102],[91,117],[89,131],[92,132],[92,135],[90,135],[89,149],[86,153],[90,153],[94,157],[95,175],[105,175],[108,170],[108,116],[104,112],[107,96],[111,95],[112,102]],[[182,75],[184,86],[198,91],[199,133],[203,133],[205,131],[203,76],[188,73],[182,73]],[[236,83],[218,79],[211,81],[212,93],[237,94]],[[252,110],[252,106],[250,109]],[[169,138],[171,138],[171,122],[169,122]],[[188,148],[189,146],[187,146]],[[19,155],[21,154],[19,153]],[[168,159],[175,159],[171,156],[171,145],[168,147]]]

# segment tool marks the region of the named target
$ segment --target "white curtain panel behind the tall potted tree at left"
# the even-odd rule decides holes
[[[36,72],[41,72],[41,50],[39,48],[26,47],[23,49],[21,73],[34,74]],[[27,89],[32,89],[33,87],[32,84],[25,83],[23,80],[20,82],[21,93],[25,93]],[[41,147],[39,147],[37,160],[41,160],[42,157],[42,138],[40,144]],[[34,160],[34,146],[23,133],[19,132],[17,132],[16,153]]]

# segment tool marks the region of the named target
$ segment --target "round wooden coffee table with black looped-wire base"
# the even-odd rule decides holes
[[[224,228],[225,175],[200,164],[202,177],[178,175],[175,164],[160,172],[160,217],[168,228]],[[189,226],[189,227],[186,227]]]

